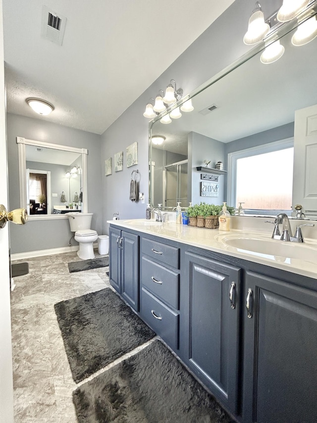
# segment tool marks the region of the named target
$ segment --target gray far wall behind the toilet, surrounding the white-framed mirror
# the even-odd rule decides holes
[[[92,229],[102,234],[102,185],[100,165],[100,135],[68,128],[40,119],[7,114],[9,208],[20,207],[18,147],[16,137],[70,147],[87,148],[88,211],[93,212]],[[10,225],[11,254],[68,246],[72,233],[68,220],[28,222],[24,226]],[[74,245],[77,242],[72,242]]]

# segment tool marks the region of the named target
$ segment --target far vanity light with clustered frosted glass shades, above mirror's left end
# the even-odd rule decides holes
[[[170,83],[166,87],[165,95],[163,90],[159,90],[159,94],[157,95],[155,102],[154,99],[151,98],[151,100],[153,100],[154,102],[154,105],[150,101],[146,106],[143,116],[148,119],[155,118],[157,115],[159,115],[159,113],[166,110],[166,108],[168,108],[170,105],[180,100],[182,98],[182,95],[182,88],[177,89],[175,80],[171,79]],[[162,123],[170,123],[168,115],[165,119],[163,119]]]

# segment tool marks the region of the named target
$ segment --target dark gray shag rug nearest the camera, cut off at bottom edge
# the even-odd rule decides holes
[[[159,341],[73,392],[79,423],[234,422]]]

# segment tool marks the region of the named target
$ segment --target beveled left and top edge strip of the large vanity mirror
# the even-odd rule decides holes
[[[180,107],[183,103],[185,103],[190,98],[195,97],[197,94],[205,90],[206,88],[209,88],[212,84],[217,82],[219,79],[226,76],[228,73],[233,71],[235,68],[246,62],[247,60],[253,58],[258,53],[264,51],[264,49],[267,47],[267,45],[275,42],[276,40],[279,40],[284,35],[288,34],[289,32],[293,31],[295,28],[299,26],[299,21],[301,16],[306,16],[303,20],[300,22],[302,23],[304,20],[307,20],[309,17],[311,17],[307,12],[308,10],[312,10],[314,14],[317,14],[317,0],[312,0],[309,6],[302,12],[302,14],[298,15],[296,18],[292,19],[289,22],[285,23],[279,23],[275,27],[272,28],[272,30],[269,32],[269,35],[265,38],[265,40],[262,40],[259,44],[257,44],[255,47],[251,48],[246,54],[240,56],[237,60],[235,60],[233,63],[229,64],[219,72],[217,72],[215,75],[213,75],[209,80],[207,80],[205,83],[200,85],[198,88],[193,90],[190,94],[187,94],[183,96],[180,100],[173,103],[172,105],[166,107],[166,109],[159,113],[155,118],[153,118],[151,121],[149,121],[149,203],[152,207],[153,205],[153,196],[152,196],[152,190],[154,189],[153,181],[152,181],[152,126],[155,122],[162,119],[163,116],[167,115],[167,113],[170,113],[173,109],[176,107]],[[162,207],[163,210],[165,210],[164,207]]]

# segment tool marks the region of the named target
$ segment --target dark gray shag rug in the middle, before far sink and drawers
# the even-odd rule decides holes
[[[75,382],[155,336],[110,288],[54,305]]]

